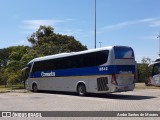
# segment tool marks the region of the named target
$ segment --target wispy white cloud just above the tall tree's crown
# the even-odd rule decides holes
[[[72,23],[76,19],[46,19],[46,20],[24,20],[20,26],[22,34],[31,34],[36,31],[40,25],[52,26],[55,28],[55,32],[63,35],[72,35],[81,34],[83,30],[81,28],[74,28]],[[66,24],[67,23],[67,24]],[[68,27],[69,26],[69,27]],[[70,27],[72,26],[72,28]]]

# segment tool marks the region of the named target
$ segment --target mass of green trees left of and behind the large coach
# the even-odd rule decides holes
[[[0,50],[0,85],[21,83],[21,70],[33,58],[87,49],[73,36],[54,33],[51,26],[40,26],[27,39],[31,47],[12,46]]]

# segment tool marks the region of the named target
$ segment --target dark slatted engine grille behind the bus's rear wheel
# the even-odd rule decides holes
[[[97,78],[98,91],[109,90],[107,84],[108,84],[108,77]]]

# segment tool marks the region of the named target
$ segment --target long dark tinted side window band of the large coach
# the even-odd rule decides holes
[[[108,53],[109,51],[105,50],[51,60],[37,61],[34,63],[33,72],[99,66],[107,62]]]

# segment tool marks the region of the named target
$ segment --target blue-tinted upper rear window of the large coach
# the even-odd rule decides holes
[[[114,47],[115,59],[134,59],[134,52],[130,47]]]

